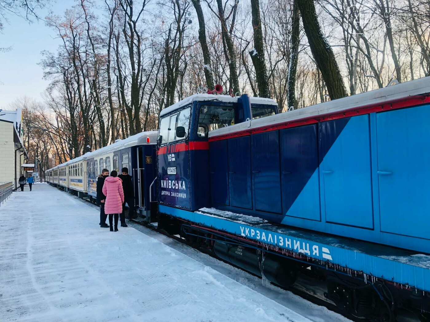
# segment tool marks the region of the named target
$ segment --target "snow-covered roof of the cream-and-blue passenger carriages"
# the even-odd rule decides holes
[[[127,137],[124,140],[117,140],[117,142],[112,143],[108,146],[104,146],[101,149],[98,149],[98,150],[95,150],[92,152],[86,152],[84,155],[81,155],[80,157],[77,157],[77,158],[71,159],[67,162],[64,162],[62,164],[59,164],[50,170],[64,167],[65,165],[73,164],[73,163],[76,163],[76,162],[79,162],[82,160],[86,160],[89,158],[93,158],[94,156],[97,156],[97,155],[115,152],[118,149],[118,147],[127,148],[129,146],[135,146],[135,145],[157,144],[157,136],[158,136],[158,131],[141,132],[141,133],[132,135],[131,137]],[[146,142],[147,137],[149,137],[150,143]]]

